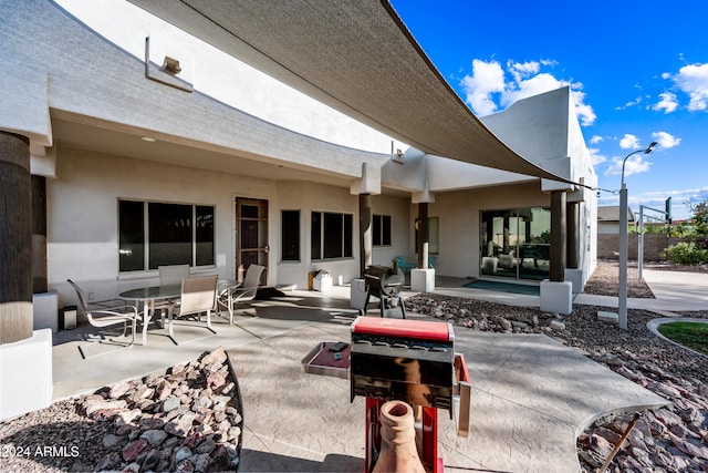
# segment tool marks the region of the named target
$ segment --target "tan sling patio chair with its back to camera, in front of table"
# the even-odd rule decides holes
[[[206,312],[207,329],[216,333],[211,327],[211,311],[216,306],[217,279],[216,275],[183,279],[179,301],[170,301],[167,308],[169,338],[175,345],[179,345],[173,331],[173,320],[176,317],[196,316],[197,320],[201,320],[201,315]]]

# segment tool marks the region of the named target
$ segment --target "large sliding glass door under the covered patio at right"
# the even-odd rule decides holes
[[[542,207],[481,213],[480,274],[513,279],[549,277],[551,209]]]

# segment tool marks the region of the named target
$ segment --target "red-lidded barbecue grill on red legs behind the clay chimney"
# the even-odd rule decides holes
[[[441,321],[358,317],[352,323],[351,400],[366,398],[366,462],[371,472],[381,451],[379,411],[392,400],[416,413],[418,456],[428,472],[442,472],[438,457],[438,409],[456,419],[458,435],[469,432],[470,383],[455,335]]]

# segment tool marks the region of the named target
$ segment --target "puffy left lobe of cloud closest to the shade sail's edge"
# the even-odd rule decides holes
[[[461,81],[467,102],[475,113],[489,115],[497,112],[492,94],[503,92],[504,72],[497,61],[472,61],[472,75],[465,75]]]

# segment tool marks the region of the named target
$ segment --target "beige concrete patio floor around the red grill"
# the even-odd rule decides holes
[[[530,296],[460,291],[451,279],[441,280],[438,291],[533,306],[525,299]],[[150,330],[146,347],[129,349],[91,341],[94,336],[85,327],[60,332],[53,349],[54,399],[162,371],[222,347],[233,360],[243,401],[239,471],[361,472],[364,399],[350,402],[348,380],[305,373],[301,364],[317,343],[351,339],[356,311],[348,296],[348,287],[326,295],[290,291],[257,302],[232,326],[215,318],[216,336],[202,327],[178,326],[179,346],[160,330]],[[668,403],[545,336],[459,327],[455,336],[472,380],[471,431],[469,438],[457,436],[447,413],[439,413],[446,471],[577,471],[576,435],[594,419]],[[81,358],[80,345],[90,358]]]

